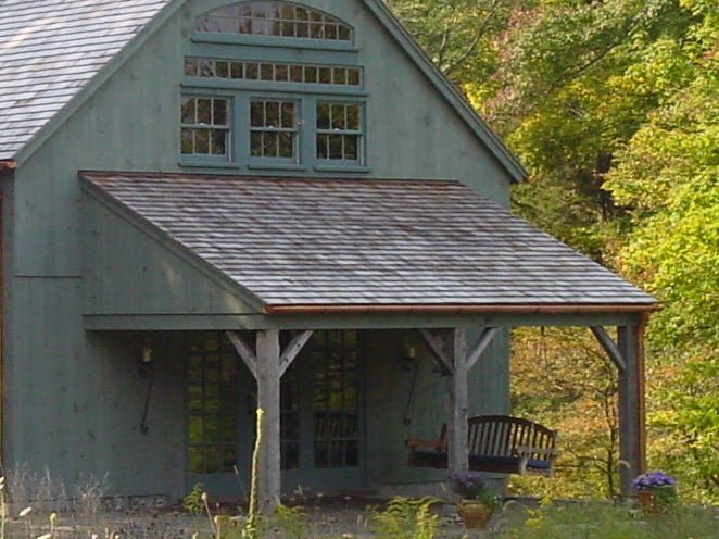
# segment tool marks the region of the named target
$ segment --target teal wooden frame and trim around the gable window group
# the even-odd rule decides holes
[[[302,7],[300,3],[293,5]],[[232,4],[235,5],[235,4]],[[310,7],[304,7],[314,9]],[[325,12],[323,12],[325,13]],[[204,16],[206,13],[201,14]],[[344,21],[332,16],[340,23]],[[367,145],[370,134],[367,127],[368,95],[365,90],[366,74],[358,63],[354,47],[356,32],[352,30],[349,41],[305,39],[298,37],[266,36],[252,34],[197,32],[194,18],[190,20],[193,32],[189,50],[182,59],[181,90],[184,95],[229,96],[232,120],[230,122],[230,155],[226,161],[213,159],[188,159],[180,156],[180,166],[212,170],[226,167],[238,172],[307,172],[319,173],[368,173]],[[186,72],[187,60],[209,60],[211,62],[257,63],[275,65],[303,65],[332,70],[358,70],[358,84],[307,83],[299,80],[267,80],[232,78],[231,76],[200,76]],[[213,68],[216,64],[213,64]],[[244,67],[243,67],[244,68]],[[345,72],[349,73],[349,72]],[[275,78],[275,77],[273,77]],[[300,118],[297,129],[298,154],[295,159],[261,158],[251,154],[250,102],[252,99],[291,100],[299,104]],[[317,156],[317,101],[357,104],[362,111],[362,123],[357,135],[361,139],[356,160],[328,160]]]

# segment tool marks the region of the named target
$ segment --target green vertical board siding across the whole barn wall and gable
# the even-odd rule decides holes
[[[81,473],[108,472],[113,492],[124,494],[174,499],[185,491],[181,362],[169,351],[159,354],[150,430],[142,435],[147,380],[137,373],[138,338],[86,333],[83,315],[222,314],[244,308],[205,274],[106,210],[91,209],[86,222],[87,196],[77,172],[181,171],[180,84],[184,57],[192,50],[192,20],[224,3],[188,2],[15,173],[9,199],[14,223],[5,233],[5,261],[12,266],[4,268],[10,290],[4,323],[7,463],[27,462],[37,471],[47,466],[62,472],[68,485]],[[369,172],[362,175],[456,178],[508,203],[507,174],[400,46],[375,26],[362,2],[306,3],[355,26],[356,63],[366,77]],[[293,174],[253,172],[261,173]],[[83,234],[100,230],[102,238],[88,237],[84,246]],[[386,318],[387,327],[393,322],[401,323]],[[378,352],[369,366],[370,482],[418,477],[401,467],[402,441],[409,435],[433,435],[443,421],[439,390],[409,427],[398,419],[398,428],[386,428],[382,414],[401,417],[404,405],[406,379],[400,376],[393,386],[386,378],[384,362],[395,358]],[[431,368],[422,368],[425,381],[436,383]],[[388,384],[391,391],[384,390]],[[383,402],[388,394],[396,401]]]

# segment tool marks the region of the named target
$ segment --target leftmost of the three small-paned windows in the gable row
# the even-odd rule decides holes
[[[229,109],[227,99],[182,97],[181,154],[227,158],[230,133]]]

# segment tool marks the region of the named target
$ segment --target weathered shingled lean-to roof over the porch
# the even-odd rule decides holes
[[[457,181],[81,177],[267,308],[656,303]]]

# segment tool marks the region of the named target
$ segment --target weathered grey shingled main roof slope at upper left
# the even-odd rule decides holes
[[[0,0],[0,160],[12,159],[169,0]]]

